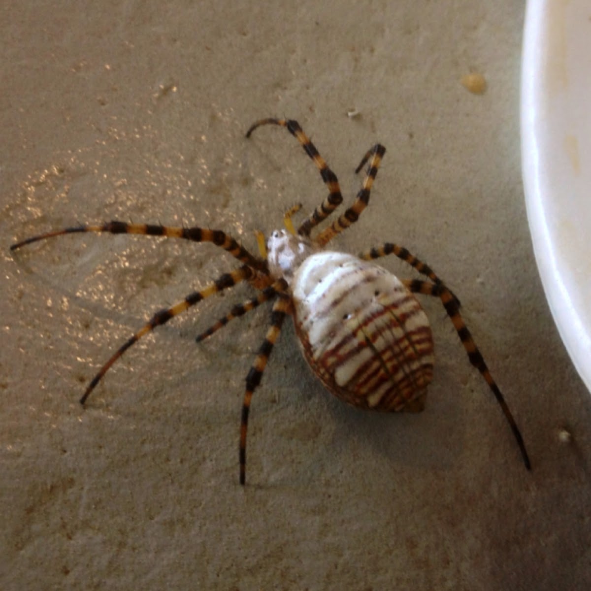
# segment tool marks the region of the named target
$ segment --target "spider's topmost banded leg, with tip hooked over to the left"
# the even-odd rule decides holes
[[[301,147],[304,148],[304,152],[313,160],[316,164],[316,168],[320,171],[320,176],[324,181],[324,184],[329,189],[329,195],[324,201],[316,207],[314,212],[301,223],[298,228],[298,234],[302,236],[310,236],[310,232],[314,226],[317,226],[322,220],[326,219],[335,209],[343,202],[343,196],[340,192],[339,180],[336,174],[330,170],[329,166],[324,161],[324,158],[319,154],[316,146],[311,142],[310,138],[304,134],[300,124],[293,119],[261,119],[255,124],[251,125],[251,128],[246,132],[246,137],[251,137],[253,131],[261,125],[280,125],[281,127],[287,128],[287,131],[293,135]]]

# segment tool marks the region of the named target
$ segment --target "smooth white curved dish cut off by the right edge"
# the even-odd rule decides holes
[[[564,225],[572,222],[573,216],[577,218],[576,203],[573,204],[577,191],[583,190],[579,197],[589,202],[591,208],[591,184],[585,187],[579,182],[584,174],[579,174],[581,169],[577,168],[576,161],[573,173],[573,154],[565,153],[569,151],[567,138],[573,137],[577,149],[574,155],[579,158],[580,167],[589,164],[591,168],[591,162],[580,157],[579,144],[576,143],[576,117],[581,113],[573,113],[569,105],[569,94],[584,92],[584,89],[573,88],[580,80],[572,72],[569,76],[571,64],[567,64],[570,43],[567,18],[569,22],[573,18],[567,15],[567,11],[576,10],[576,5],[576,1],[527,2],[521,64],[521,163],[528,222],[544,291],[564,345],[591,391],[588,314],[591,291],[587,292],[591,278],[586,272],[591,268],[591,261],[576,261],[577,255],[591,255],[591,248],[583,248],[580,252],[582,244],[591,244],[591,226],[586,228],[587,235],[583,233],[579,242],[573,242],[569,229],[585,220],[575,220],[574,226]],[[589,15],[585,19],[587,23],[591,22]],[[591,35],[591,27],[588,31],[587,34]],[[561,44],[558,48],[557,43]],[[591,44],[587,43],[587,46],[591,47]],[[563,54],[557,55],[560,49],[564,50]],[[587,51],[589,56],[591,51]],[[561,59],[564,63],[558,63]],[[589,77],[589,71],[578,74],[579,79]],[[589,101],[591,95],[583,93],[580,96]],[[583,121],[586,116],[591,118],[591,108],[589,115],[583,113]],[[582,131],[585,131],[584,124]],[[569,182],[571,178],[572,183]],[[585,217],[584,212],[581,215]]]

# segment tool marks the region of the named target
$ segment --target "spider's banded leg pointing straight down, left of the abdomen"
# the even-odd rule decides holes
[[[240,421],[240,483],[246,482],[246,430],[248,429],[248,413],[251,408],[252,394],[256,387],[261,383],[262,374],[267,366],[267,361],[275,341],[281,332],[281,325],[285,316],[290,312],[290,299],[286,296],[280,296],[273,304],[271,313],[271,326],[267,330],[265,340],[259,349],[258,355],[252,364],[251,370],[246,376],[246,391],[242,402],[242,417]]]

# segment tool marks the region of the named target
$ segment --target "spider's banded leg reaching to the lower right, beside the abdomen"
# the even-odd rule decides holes
[[[441,303],[443,303],[443,307],[447,312],[447,316],[449,316],[450,320],[452,320],[457,335],[460,337],[462,345],[466,349],[470,363],[472,363],[472,365],[478,369],[480,375],[482,375],[486,383],[489,385],[489,388],[491,388],[492,393],[495,395],[496,401],[499,403],[499,405],[501,405],[503,414],[505,415],[505,418],[511,427],[511,431],[513,431],[513,435],[515,440],[517,440],[519,450],[521,450],[521,456],[523,457],[525,467],[528,470],[531,470],[530,458],[527,454],[527,450],[525,450],[525,443],[523,437],[521,436],[521,432],[517,427],[517,423],[515,423],[515,419],[511,414],[511,410],[509,410],[509,406],[505,401],[505,397],[502,395],[501,390],[496,384],[495,379],[492,377],[491,372],[489,371],[488,366],[482,357],[482,353],[480,353],[480,350],[474,342],[472,334],[467,329],[462,316],[460,316],[460,309],[452,292],[449,291],[449,289],[447,289],[443,283],[434,284],[423,280],[407,280],[403,281],[403,283],[408,288],[408,290],[412,291],[413,293],[421,293],[426,294],[427,296],[435,296],[440,298]]]

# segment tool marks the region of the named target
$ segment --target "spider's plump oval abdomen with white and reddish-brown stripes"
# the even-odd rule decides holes
[[[395,275],[340,252],[319,252],[291,283],[304,357],[332,394],[356,407],[422,410],[433,336]]]

